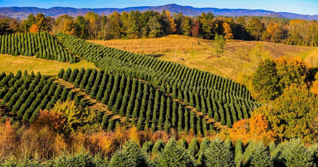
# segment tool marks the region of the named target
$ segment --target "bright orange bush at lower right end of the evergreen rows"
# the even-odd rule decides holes
[[[269,128],[265,115],[254,114],[248,120],[235,122],[229,129],[229,136],[233,142],[241,139],[244,144],[250,140],[268,144],[275,141],[276,134]]]

